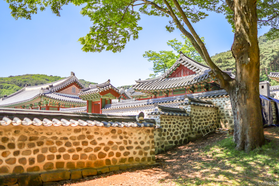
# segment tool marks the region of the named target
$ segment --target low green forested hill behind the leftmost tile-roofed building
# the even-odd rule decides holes
[[[51,83],[65,77],[60,76],[48,76],[43,74],[25,74],[18,76],[0,77],[0,98],[4,95],[10,95],[14,92],[21,90],[26,84],[29,86],[43,85],[46,83]],[[84,79],[79,79],[85,87],[91,84],[97,84],[90,81],[85,81]]]

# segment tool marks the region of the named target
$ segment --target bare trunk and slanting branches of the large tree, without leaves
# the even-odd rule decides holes
[[[147,2],[147,0],[144,1]],[[212,69],[213,74],[211,75],[217,77],[221,88],[230,95],[235,122],[236,148],[248,152],[262,146],[264,135],[259,97],[260,54],[257,38],[256,0],[226,0],[229,8],[234,11],[235,19],[235,37],[231,49],[236,61],[235,79],[232,79],[212,62],[204,43],[200,40],[178,1],[172,0],[191,34],[180,23],[168,1],[163,1],[168,8],[163,11],[173,18],[178,29],[189,38],[194,48]],[[160,10],[160,8],[154,7]]]

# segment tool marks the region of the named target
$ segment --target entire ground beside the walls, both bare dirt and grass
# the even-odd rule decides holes
[[[211,133],[156,155],[159,165],[61,181],[59,185],[242,186],[258,185],[258,181],[279,181],[279,127],[266,128],[265,135],[272,142],[245,153],[234,150],[231,135]]]

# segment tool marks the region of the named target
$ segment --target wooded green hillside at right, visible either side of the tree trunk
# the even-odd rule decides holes
[[[279,72],[279,39],[267,40],[266,36],[259,37],[260,47],[260,81],[269,80],[267,75],[269,72]],[[235,60],[231,51],[222,52],[211,56],[211,59],[222,70],[232,70],[235,74]],[[275,85],[275,81],[269,80],[271,85]]]

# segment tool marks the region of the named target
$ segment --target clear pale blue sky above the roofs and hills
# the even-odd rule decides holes
[[[46,74],[68,77],[75,72],[79,79],[103,83],[108,79],[114,86],[132,85],[134,80],[146,79],[153,66],[142,57],[144,51],[172,50],[168,40],[180,39],[181,32],[165,30],[168,18],[142,15],[143,30],[139,39],[131,40],[121,53],[103,51],[85,53],[77,42],[92,25],[88,17],[79,14],[81,7],[63,6],[61,17],[50,9],[32,16],[32,20],[10,15],[9,5],[0,1],[0,77],[23,74]],[[194,24],[197,33],[205,38],[209,54],[230,50],[232,29],[222,14],[210,15]],[[263,35],[269,28],[258,31]]]

